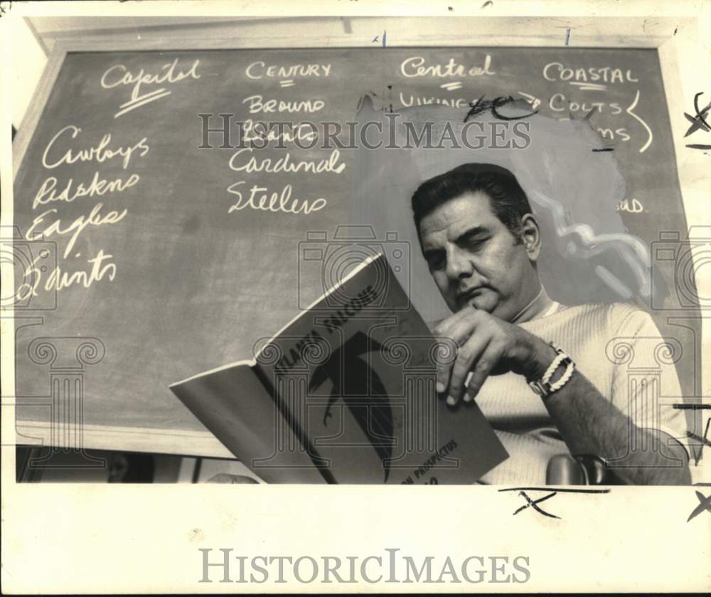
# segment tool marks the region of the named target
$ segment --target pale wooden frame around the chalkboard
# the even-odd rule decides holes
[[[417,33],[427,19],[427,35]],[[531,46],[563,47],[567,29],[574,31],[574,47],[656,48],[661,63],[663,83],[678,165],[680,189],[690,225],[704,222],[703,199],[707,161],[701,152],[689,152],[683,141],[687,122],[683,112],[693,110],[693,95],[705,89],[702,85],[700,58],[700,23],[693,17],[675,19],[571,18],[476,18],[463,17],[452,23],[444,18],[341,18],[321,19],[326,31],[313,35],[311,24],[297,23],[289,27],[289,35],[265,36],[255,23],[231,23],[211,28],[196,26],[192,33],[158,31],[156,38],[137,40],[133,34],[120,33],[109,37],[74,36],[58,42],[50,54],[41,82],[33,95],[22,126],[13,143],[13,172],[16,176],[25,152],[40,120],[50,92],[69,53],[82,51],[170,51],[260,48],[370,48],[366,31],[389,31],[388,45],[393,47],[447,46]],[[263,26],[264,21],[262,21]],[[341,31],[338,31],[338,28]],[[303,31],[301,30],[303,28]],[[472,35],[472,31],[486,34]],[[397,34],[395,34],[397,32]],[[187,34],[186,34],[187,33]],[[237,33],[244,33],[237,35]],[[700,289],[702,290],[702,289]],[[711,295],[711,293],[702,294]],[[708,325],[710,322],[705,321]],[[704,330],[707,338],[710,330]],[[707,382],[704,379],[704,382]],[[704,383],[703,387],[708,387]],[[31,438],[48,437],[49,423],[22,421],[16,423],[18,443],[32,443]],[[51,435],[63,429],[51,430]],[[83,448],[174,453],[182,455],[230,458],[226,448],[210,433],[181,430],[171,432],[152,428],[90,426],[82,428]]]

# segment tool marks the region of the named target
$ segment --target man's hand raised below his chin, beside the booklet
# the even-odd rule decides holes
[[[437,366],[437,391],[447,392],[447,403],[451,406],[462,396],[465,402],[471,401],[489,375],[513,371],[527,379],[538,379],[556,354],[550,344],[518,325],[473,307],[464,307],[443,319],[432,333],[454,340],[459,347],[453,364]],[[465,382],[470,371],[467,388]]]

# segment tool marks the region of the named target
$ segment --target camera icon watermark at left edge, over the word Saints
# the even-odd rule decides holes
[[[57,267],[57,243],[27,241],[17,226],[0,230],[0,262],[14,270],[14,284],[3,285],[0,295],[2,310],[55,310],[57,291],[43,285]]]

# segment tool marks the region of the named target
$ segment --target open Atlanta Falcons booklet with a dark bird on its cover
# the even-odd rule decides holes
[[[258,344],[170,389],[267,482],[465,484],[508,458],[476,401],[437,394],[456,346],[432,336],[385,255]]]

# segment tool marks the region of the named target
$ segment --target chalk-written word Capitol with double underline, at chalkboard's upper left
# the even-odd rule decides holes
[[[165,85],[166,83],[180,83],[186,79],[200,78],[198,74],[199,59],[193,61],[191,67],[186,70],[178,69],[178,60],[179,58],[176,58],[173,62],[164,64],[158,73],[147,72],[144,68],[141,68],[138,73],[132,73],[123,64],[114,64],[107,68],[101,77],[102,88],[113,89],[119,85],[133,86],[131,99],[119,106],[120,109],[114,114],[114,118],[171,94],[169,89],[161,87],[141,95],[141,85]]]

